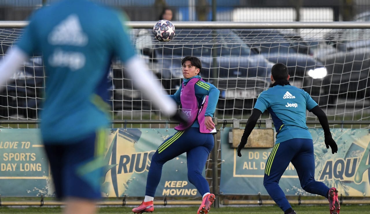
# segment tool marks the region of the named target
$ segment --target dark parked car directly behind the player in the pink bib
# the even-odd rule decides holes
[[[269,88],[273,63],[257,54],[230,30],[181,30],[170,43],[155,44],[159,79],[174,93],[181,83],[181,59],[199,57],[201,76],[220,91],[219,108],[252,109],[253,101]],[[177,41],[177,42],[175,42]]]

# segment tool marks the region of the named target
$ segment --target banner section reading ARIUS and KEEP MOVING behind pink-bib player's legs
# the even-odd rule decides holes
[[[103,183],[106,197],[139,197],[145,195],[150,160],[159,145],[175,130],[112,129],[108,140],[109,166]],[[186,154],[164,164],[155,196],[200,196],[189,183]]]

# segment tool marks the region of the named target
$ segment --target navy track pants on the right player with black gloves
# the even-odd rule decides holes
[[[294,138],[277,143],[272,148],[272,152],[266,161],[263,185],[270,197],[283,211],[288,210],[291,206],[279,186],[279,180],[290,162],[292,162],[297,171],[303,190],[308,193],[327,197],[329,187],[322,182],[315,181],[315,160],[312,140]]]

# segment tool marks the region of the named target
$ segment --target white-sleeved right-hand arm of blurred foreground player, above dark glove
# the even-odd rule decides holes
[[[175,101],[161,89],[159,81],[150,78],[152,74],[145,67],[145,63],[139,57],[132,57],[126,64],[129,77],[144,96],[149,97],[154,106],[163,113],[174,115],[177,109]]]

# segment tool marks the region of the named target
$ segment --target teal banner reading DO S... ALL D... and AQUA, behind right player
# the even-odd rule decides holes
[[[221,133],[221,194],[268,195],[263,187],[266,160],[272,148],[244,148],[242,157],[230,148],[228,134]],[[314,144],[315,179],[328,187],[336,187],[343,196],[370,195],[370,133],[367,129],[332,129],[338,152],[331,153],[324,144],[323,130],[309,129]],[[280,187],[286,195],[312,195],[301,186],[292,163],[283,174]]]

